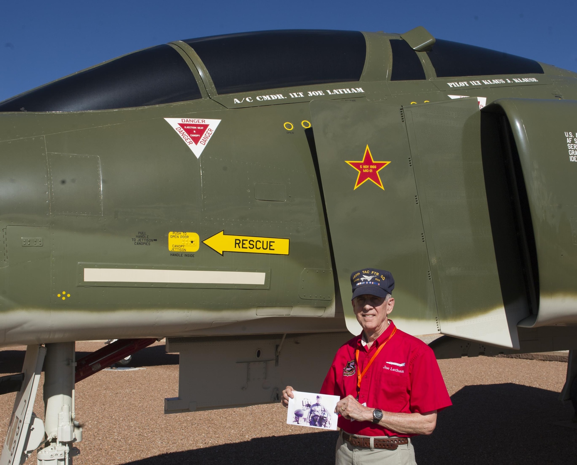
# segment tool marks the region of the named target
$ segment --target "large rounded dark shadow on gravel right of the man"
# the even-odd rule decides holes
[[[414,440],[419,465],[577,463],[575,430],[551,424],[572,415],[559,392],[513,383],[475,385],[451,400],[434,433]]]

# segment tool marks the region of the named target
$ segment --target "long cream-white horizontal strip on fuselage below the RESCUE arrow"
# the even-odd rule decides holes
[[[84,268],[85,282],[260,284],[267,273],[252,271],[195,271],[188,269]]]

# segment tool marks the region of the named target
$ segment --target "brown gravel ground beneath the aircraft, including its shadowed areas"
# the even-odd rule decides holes
[[[102,346],[76,347],[87,353]],[[0,350],[0,376],[20,372],[23,360],[24,347]],[[164,397],[178,393],[178,355],[165,354],[163,343],[138,352],[130,365],[145,370],[106,370],[77,384],[84,440],[75,465],[334,463],[337,433],[287,425],[280,404],[164,415]],[[577,429],[552,424],[572,415],[557,400],[567,363],[477,357],[439,366],[454,406],[440,412],[432,436],[414,440],[419,465],[577,463]],[[2,438],[14,396],[0,397]]]

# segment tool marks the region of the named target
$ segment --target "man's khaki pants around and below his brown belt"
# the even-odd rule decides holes
[[[357,434],[358,437],[368,437]],[[385,438],[389,436],[375,436]],[[411,444],[399,445],[394,451],[388,449],[374,449],[369,447],[355,447],[343,440],[339,434],[336,441],[335,465],[417,465],[415,462],[415,449]]]

